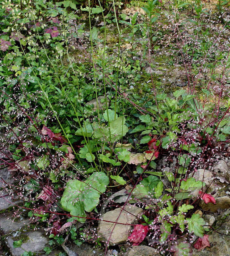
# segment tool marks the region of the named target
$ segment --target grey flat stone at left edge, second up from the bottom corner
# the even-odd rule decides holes
[[[29,219],[20,219],[13,221],[13,213],[3,213],[0,215],[0,228],[4,235],[9,234],[12,231],[21,229],[24,226],[28,226],[30,223]]]

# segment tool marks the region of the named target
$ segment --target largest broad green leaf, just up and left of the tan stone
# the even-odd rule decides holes
[[[108,184],[109,178],[103,172],[93,173],[84,182],[68,181],[61,199],[63,209],[84,223],[85,211],[91,212],[98,205],[100,194],[106,191]]]

